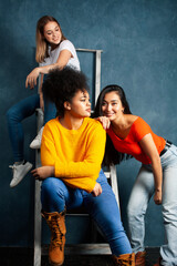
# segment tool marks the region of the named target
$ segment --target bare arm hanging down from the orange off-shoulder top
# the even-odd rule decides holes
[[[152,134],[149,133],[145,135],[140,140],[139,144],[143,151],[145,152],[145,154],[152,161],[152,168],[153,168],[154,181],[155,181],[154,201],[156,204],[162,204],[163,170],[160,164],[160,157],[156,149],[156,145],[154,143],[154,140],[152,137]]]

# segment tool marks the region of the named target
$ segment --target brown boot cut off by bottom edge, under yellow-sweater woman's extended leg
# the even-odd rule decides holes
[[[135,254],[123,254],[118,257],[113,256],[116,266],[135,266]]]

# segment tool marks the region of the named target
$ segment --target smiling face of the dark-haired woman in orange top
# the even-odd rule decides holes
[[[105,94],[102,103],[103,115],[108,117],[111,121],[123,115],[124,106],[118,94],[115,91]]]

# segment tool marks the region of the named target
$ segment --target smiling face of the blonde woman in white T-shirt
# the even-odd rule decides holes
[[[44,25],[43,35],[52,48],[58,45],[62,39],[60,25],[55,21],[50,21]]]

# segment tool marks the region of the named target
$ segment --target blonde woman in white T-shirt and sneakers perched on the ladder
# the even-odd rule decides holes
[[[14,163],[12,166],[12,181],[10,186],[18,185],[27,173],[32,168],[32,164],[24,160],[23,142],[24,134],[21,122],[41,108],[44,111],[44,123],[55,116],[54,104],[42,94],[42,83],[44,74],[51,69],[73,66],[80,70],[80,62],[74,45],[66,40],[62,33],[59,22],[50,16],[42,17],[37,23],[37,52],[35,60],[39,66],[33,69],[27,76],[25,86],[31,90],[37,85],[40,78],[40,94],[33,94],[18,104],[13,105],[7,113],[9,136],[13,151]],[[31,147],[38,147],[38,140],[31,143]]]

